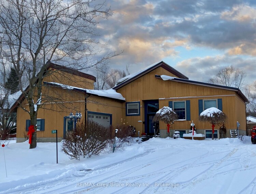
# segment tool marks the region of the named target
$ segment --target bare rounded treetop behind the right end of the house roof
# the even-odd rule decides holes
[[[212,77],[208,83],[219,84],[224,86],[236,87],[242,89],[244,87],[246,73],[233,66],[225,67]]]

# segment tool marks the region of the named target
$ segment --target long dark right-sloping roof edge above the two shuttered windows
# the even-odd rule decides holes
[[[212,88],[219,88],[219,89],[235,91],[244,100],[245,103],[249,103],[248,99],[245,97],[245,95],[241,92],[241,90],[239,88],[234,88],[234,87],[230,87],[230,86],[222,86],[222,85],[217,85],[217,84],[210,84],[210,83],[205,83],[205,82],[197,82],[197,81],[192,81],[192,80],[186,80],[186,79],[171,77],[168,75],[155,75],[155,77],[162,79],[164,81],[169,80],[169,81],[174,81],[174,82],[182,82],[182,83],[187,83],[187,84],[194,84],[194,85],[199,85],[199,86],[207,86],[207,87],[212,87]]]

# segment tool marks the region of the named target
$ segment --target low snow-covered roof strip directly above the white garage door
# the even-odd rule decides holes
[[[65,84],[60,84],[60,83],[57,83],[57,82],[44,82],[44,84],[55,85],[55,86],[59,86],[59,87],[62,87],[64,89],[68,89],[68,90],[86,91],[89,94],[103,96],[103,97],[107,97],[107,98],[118,99],[118,100],[124,100],[125,101],[125,98],[122,96],[122,94],[117,93],[114,89],[109,89],[109,90],[90,90],[90,89],[85,89],[85,88],[79,88],[79,87],[69,86],[69,85],[65,85]]]

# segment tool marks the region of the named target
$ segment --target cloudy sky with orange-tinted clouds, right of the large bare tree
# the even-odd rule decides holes
[[[122,54],[112,68],[130,73],[165,61],[190,80],[207,82],[225,66],[256,80],[256,2],[241,0],[107,0],[114,12],[97,26]]]

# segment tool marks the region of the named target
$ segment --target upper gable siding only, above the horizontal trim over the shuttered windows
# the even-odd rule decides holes
[[[235,94],[234,91],[225,89],[211,88],[206,86],[198,86],[188,83],[180,83],[174,81],[163,81],[155,78],[155,75],[169,75],[162,67],[159,67],[139,79],[117,89],[121,93],[126,102],[138,100],[153,100],[159,98],[182,97],[182,96],[209,96],[209,95],[227,95]]]

